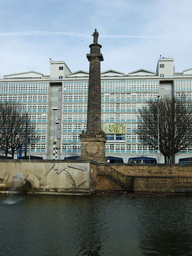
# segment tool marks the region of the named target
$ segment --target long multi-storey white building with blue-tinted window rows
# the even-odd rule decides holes
[[[36,125],[39,140],[31,145],[31,155],[53,159],[56,137],[58,159],[81,154],[79,133],[86,130],[88,84],[88,72],[72,73],[64,61],[50,61],[50,75],[29,71],[0,79],[0,101],[18,102]],[[106,156],[123,157],[124,163],[133,156],[157,158],[156,150],[142,146],[134,133],[138,109],[149,99],[157,100],[157,95],[177,97],[182,93],[192,100],[192,68],[175,73],[173,58],[161,57],[156,72],[139,69],[124,74],[107,70],[101,73],[101,92]],[[182,156],[178,154],[175,162],[191,154],[188,149]]]

